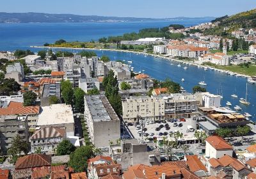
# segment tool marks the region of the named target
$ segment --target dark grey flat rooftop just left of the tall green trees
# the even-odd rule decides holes
[[[60,98],[60,83],[44,84],[42,98],[48,98],[51,96]]]

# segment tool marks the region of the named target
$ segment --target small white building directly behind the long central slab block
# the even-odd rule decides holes
[[[99,79],[97,78],[79,79],[79,88],[83,89],[85,93],[87,93],[88,90],[92,90],[92,89],[100,90]]]

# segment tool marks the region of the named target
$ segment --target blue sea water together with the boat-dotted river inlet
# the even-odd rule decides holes
[[[138,32],[147,27],[164,27],[170,24],[183,24],[186,27],[194,26],[205,22],[195,20],[181,21],[148,21],[148,22],[111,22],[111,23],[33,23],[33,24],[0,24],[0,51],[14,51],[16,49],[31,49],[30,45],[42,45],[52,43],[63,38],[67,41],[88,41],[98,40],[102,36],[115,36],[124,33]],[[38,49],[31,49],[38,51]],[[245,98],[246,79],[243,77],[230,76],[212,70],[205,71],[196,66],[177,67],[178,63],[165,59],[154,58],[152,56],[136,55],[127,52],[95,51],[99,56],[108,55],[111,60],[132,61],[135,71],[143,71],[159,80],[170,78],[179,82],[187,91],[191,92],[193,86],[199,81],[207,83],[207,91],[211,93],[220,93],[223,95],[221,104],[225,106],[226,102],[232,103],[232,109],[235,105],[240,105],[243,109],[241,113],[250,113],[252,120],[256,121],[256,84],[248,84],[248,101],[250,105],[239,104],[238,98],[232,98],[230,95],[236,93],[239,98]],[[181,82],[184,78],[185,82]]]

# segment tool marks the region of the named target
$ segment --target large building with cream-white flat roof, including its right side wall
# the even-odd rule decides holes
[[[71,105],[52,104],[42,107],[37,126],[65,128],[67,136],[74,136],[74,116]]]

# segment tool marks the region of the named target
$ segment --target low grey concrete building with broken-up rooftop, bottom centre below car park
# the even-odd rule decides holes
[[[160,151],[153,142],[145,143],[138,139],[122,140],[120,145],[111,145],[109,155],[117,164],[121,164],[123,171],[136,164],[153,166],[160,164]]]

